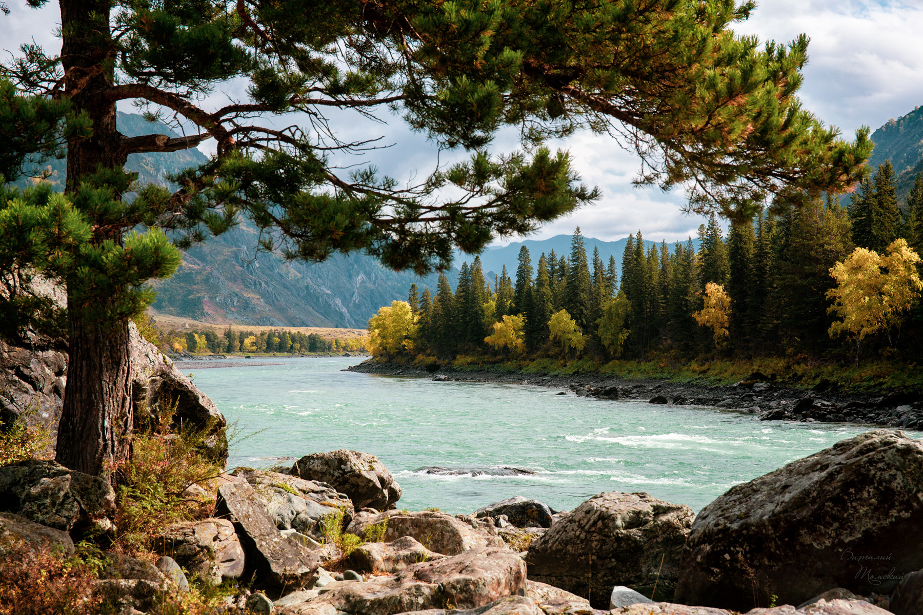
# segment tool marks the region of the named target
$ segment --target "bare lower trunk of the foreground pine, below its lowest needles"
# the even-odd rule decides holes
[[[128,324],[88,324],[68,311],[70,339],[64,408],[56,461],[87,474],[109,476],[128,458],[132,425]]]

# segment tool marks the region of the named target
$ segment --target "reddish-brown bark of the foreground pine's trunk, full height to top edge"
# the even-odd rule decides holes
[[[67,143],[66,194],[75,195],[88,175],[100,167],[121,169],[127,156],[121,147],[124,137],[115,127],[115,101],[110,96],[114,60],[110,4],[106,0],[61,0],[60,6],[65,94],[74,110],[86,112],[93,123],[90,138]],[[122,242],[118,220],[90,222],[94,243]],[[127,459],[131,445],[128,323],[100,321],[97,314],[113,297],[101,296],[92,300],[93,305],[81,305],[70,294],[68,290],[70,363],[56,460],[73,470],[108,477]]]

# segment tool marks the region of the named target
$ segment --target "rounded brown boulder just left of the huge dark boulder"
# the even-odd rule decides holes
[[[529,578],[578,596],[592,585],[597,609],[608,607],[614,585],[650,595],[656,583],[669,596],[693,517],[689,506],[647,493],[600,493],[533,541],[525,556]]]

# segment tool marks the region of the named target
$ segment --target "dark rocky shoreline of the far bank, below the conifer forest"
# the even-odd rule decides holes
[[[773,382],[761,373],[737,384],[713,386],[668,379],[639,380],[600,374],[560,376],[543,373],[500,373],[453,370],[444,366],[434,373],[423,367],[366,360],[347,368],[350,372],[380,373],[436,381],[532,384],[561,389],[568,395],[599,399],[627,399],[652,404],[707,406],[759,415],[760,420],[844,422],[859,425],[923,430],[923,396],[896,391],[885,396],[837,391],[829,383],[796,389]]]

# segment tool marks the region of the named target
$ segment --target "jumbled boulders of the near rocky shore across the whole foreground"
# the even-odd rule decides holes
[[[236,468],[184,495],[214,502],[212,516],[160,527],[150,561],[100,553],[91,590],[114,612],[162,615],[187,574],[234,587],[209,612],[242,615],[923,612],[923,444],[903,432],[841,441],[698,516],[618,491],[563,512],[521,497],[408,511],[388,468],[348,450]],[[117,531],[115,502],[105,479],[53,461],[0,467],[0,552],[71,555]]]

